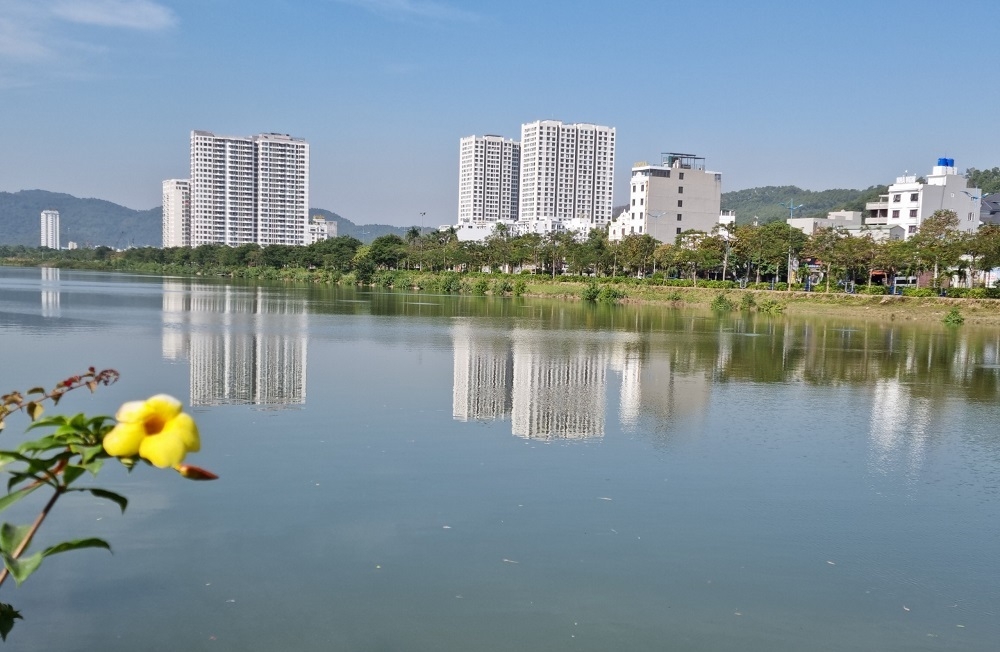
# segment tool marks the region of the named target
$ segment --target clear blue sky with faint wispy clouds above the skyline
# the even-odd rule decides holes
[[[617,128],[632,163],[723,190],[1000,165],[996,0],[0,0],[0,190],[132,208],[189,134],[309,141],[311,201],[452,223],[458,141],[538,119]]]

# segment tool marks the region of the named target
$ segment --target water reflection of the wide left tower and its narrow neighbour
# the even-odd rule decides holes
[[[164,283],[163,356],[190,360],[192,405],[305,404],[307,328],[294,296]]]

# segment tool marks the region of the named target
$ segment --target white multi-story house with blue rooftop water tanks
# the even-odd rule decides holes
[[[958,215],[959,230],[972,232],[979,228],[982,194],[979,188],[969,188],[954,159],[939,158],[926,182],[916,176],[897,177],[896,183],[878,201],[865,204],[865,224],[901,227],[903,237],[908,239],[935,211],[949,210]]]

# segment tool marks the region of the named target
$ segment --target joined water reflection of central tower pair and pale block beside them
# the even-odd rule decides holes
[[[452,339],[454,418],[510,418],[517,437],[603,437],[609,372],[621,377],[619,410],[626,428],[637,427],[643,415],[662,423],[707,407],[706,375],[678,372],[676,352],[651,359],[637,333],[501,332],[460,322]]]

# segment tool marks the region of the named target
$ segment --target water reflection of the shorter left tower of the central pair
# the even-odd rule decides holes
[[[503,419],[510,414],[514,358],[510,340],[488,339],[469,323],[452,328],[455,377],[452,416],[459,421]]]

